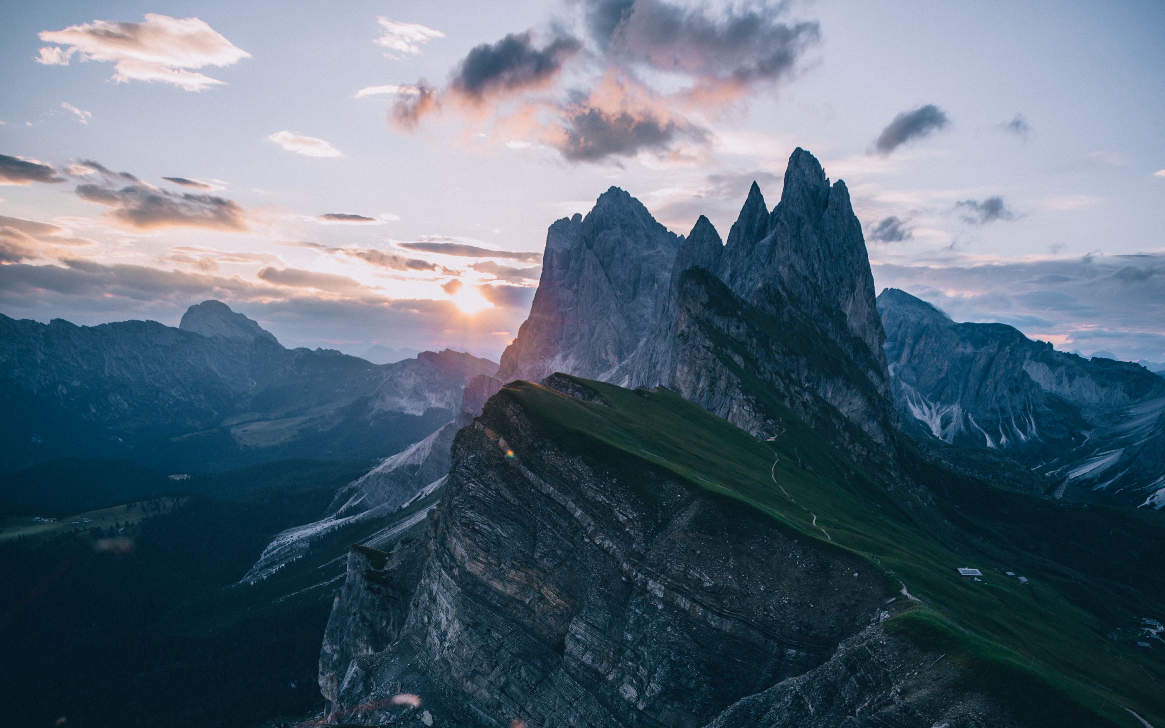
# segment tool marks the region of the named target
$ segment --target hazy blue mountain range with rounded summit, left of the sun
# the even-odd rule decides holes
[[[0,396],[19,415],[0,426],[2,466],[107,455],[174,472],[383,457],[449,422],[466,382],[495,369],[449,349],[387,366],[287,349],[216,301],[177,328],[0,314]]]

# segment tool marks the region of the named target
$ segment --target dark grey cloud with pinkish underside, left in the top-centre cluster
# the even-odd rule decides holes
[[[529,31],[511,33],[496,43],[482,43],[469,50],[450,89],[472,101],[481,101],[488,96],[542,86],[581,48],[582,43],[570,36],[535,48]]]

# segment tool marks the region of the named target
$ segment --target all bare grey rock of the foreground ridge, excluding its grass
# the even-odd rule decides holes
[[[532,386],[459,432],[428,535],[379,565],[350,556],[320,658],[330,721],[1015,725],[882,629],[909,602],[869,561],[647,461],[573,454],[515,387]]]

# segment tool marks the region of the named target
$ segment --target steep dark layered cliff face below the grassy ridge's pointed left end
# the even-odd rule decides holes
[[[700,726],[821,664],[892,594],[747,506],[564,451],[504,389],[457,438],[430,551],[395,644],[322,664],[338,720],[407,692],[443,723]]]

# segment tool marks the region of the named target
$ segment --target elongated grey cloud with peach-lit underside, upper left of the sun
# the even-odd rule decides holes
[[[105,205],[107,217],[134,229],[202,227],[242,232],[248,229],[246,213],[234,200],[216,195],[175,193],[141,182],[129,172],[114,172],[92,160],[85,167],[101,174],[100,183],[77,185],[77,197]]]

